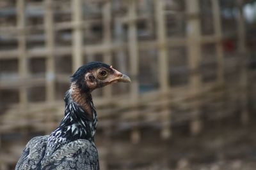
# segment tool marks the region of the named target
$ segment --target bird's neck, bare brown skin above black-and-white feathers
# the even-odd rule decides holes
[[[60,128],[76,129],[79,138],[93,139],[97,127],[97,113],[93,106],[92,95],[81,92],[72,83],[65,95],[65,117]],[[65,128],[63,128],[65,129]]]

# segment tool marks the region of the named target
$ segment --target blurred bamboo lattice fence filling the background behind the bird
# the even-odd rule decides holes
[[[243,1],[16,0],[0,7],[0,169],[12,169],[31,136],[58,125],[69,76],[91,60],[132,79],[93,94],[97,135],[109,142],[129,132],[139,143],[144,127],[169,139],[180,124],[195,135],[205,120],[237,113],[248,124],[254,72]],[[221,15],[228,9],[237,15]]]

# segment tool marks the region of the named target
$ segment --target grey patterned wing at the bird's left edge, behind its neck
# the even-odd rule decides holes
[[[15,169],[37,169],[40,167],[48,138],[49,136],[37,136],[31,139],[22,151]]]

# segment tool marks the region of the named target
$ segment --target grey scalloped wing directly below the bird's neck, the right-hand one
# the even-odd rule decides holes
[[[99,169],[98,152],[93,142],[77,139],[61,146],[42,160],[42,169]]]

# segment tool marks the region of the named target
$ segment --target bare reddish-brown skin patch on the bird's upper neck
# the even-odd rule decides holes
[[[81,90],[77,87],[75,83],[72,83],[70,88],[72,89],[72,95],[71,95],[72,100],[77,104],[79,104],[79,106],[81,106],[81,108],[83,108],[83,110],[86,111],[88,115],[90,115],[90,118],[92,118],[93,113],[92,113],[92,106],[90,101],[91,99],[90,92],[88,93],[81,92]]]

